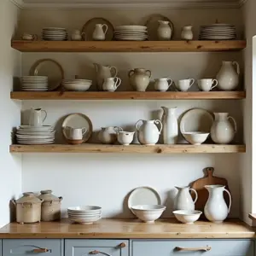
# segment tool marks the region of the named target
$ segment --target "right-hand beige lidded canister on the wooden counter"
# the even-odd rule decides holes
[[[53,221],[61,219],[61,200],[62,197],[52,195],[52,190],[42,190],[39,199],[43,200],[42,204],[42,221]]]

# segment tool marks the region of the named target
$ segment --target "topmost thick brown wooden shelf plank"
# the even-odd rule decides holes
[[[246,41],[21,41],[12,48],[21,52],[205,52],[241,50]]]

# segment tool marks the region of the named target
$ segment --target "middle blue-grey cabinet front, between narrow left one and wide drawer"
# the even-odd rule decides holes
[[[127,240],[65,240],[65,256],[128,256],[128,253]]]

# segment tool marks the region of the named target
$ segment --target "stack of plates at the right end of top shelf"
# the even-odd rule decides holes
[[[235,40],[236,27],[230,24],[211,24],[200,27],[200,40]]]

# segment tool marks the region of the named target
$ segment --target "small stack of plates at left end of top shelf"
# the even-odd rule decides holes
[[[66,41],[67,29],[61,27],[44,27],[42,38],[46,41]]]

